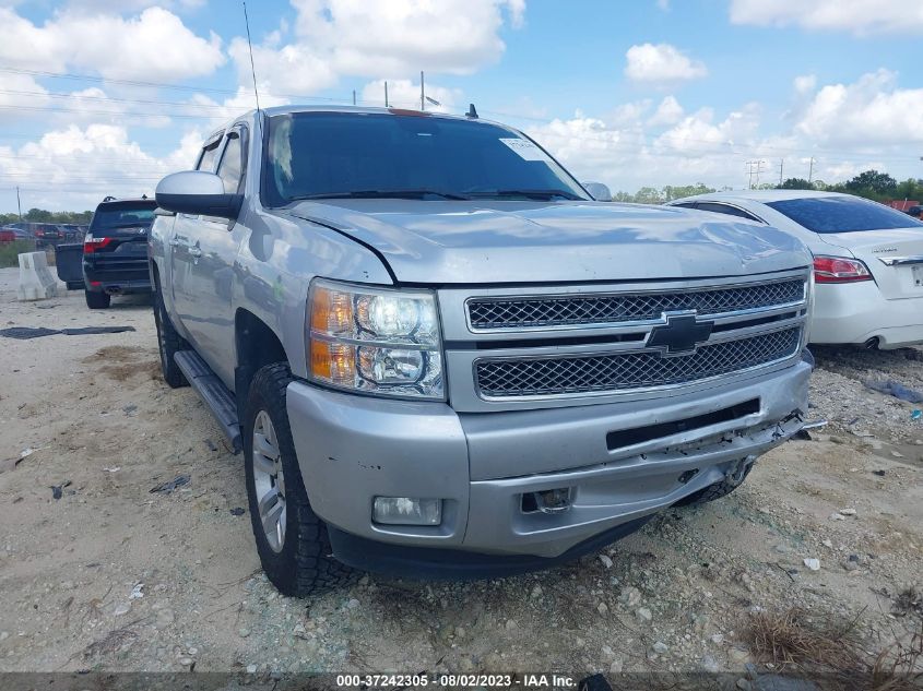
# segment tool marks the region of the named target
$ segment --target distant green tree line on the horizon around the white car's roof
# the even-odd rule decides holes
[[[722,188],[722,191],[730,191],[732,188]],[[845,182],[827,184],[823,180],[805,180],[804,178],[789,178],[781,184],[764,183],[754,189],[760,190],[819,190],[825,192],[845,192],[864,196],[876,202],[889,202],[892,200],[923,200],[923,179],[908,178],[898,182],[887,172],[878,170],[865,170]],[[631,194],[630,192],[616,192],[613,194],[614,202],[634,202],[636,204],[665,204],[675,199],[694,196],[695,194],[707,194],[717,192],[715,188],[708,187],[701,182],[697,184],[670,186],[663,188],[642,187]]]

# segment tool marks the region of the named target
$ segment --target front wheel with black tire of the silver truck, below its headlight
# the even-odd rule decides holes
[[[292,380],[284,362],[267,365],[253,376],[242,420],[244,467],[250,522],[263,571],[283,595],[307,597],[348,585],[358,573],[331,556],[327,525],[308,501],[285,408],[285,392]],[[260,448],[268,454],[255,455],[258,436],[263,440]],[[271,473],[280,470],[281,476],[273,479]],[[273,502],[264,515],[280,516],[268,521],[269,528],[263,527],[260,515],[261,499]]]

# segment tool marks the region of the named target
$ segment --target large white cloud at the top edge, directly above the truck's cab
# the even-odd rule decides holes
[[[258,80],[280,92],[310,93],[341,75],[384,79],[430,73],[471,74],[499,60],[500,31],[524,21],[525,0],[293,0],[293,38],[284,32],[255,46]],[[246,44],[230,56],[249,81]]]

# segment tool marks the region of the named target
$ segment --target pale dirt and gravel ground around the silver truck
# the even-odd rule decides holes
[[[159,379],[150,305],[17,302],[15,281],[0,271],[0,327],[135,331],[0,337],[0,671],[743,670],[767,662],[747,633],[759,612],[851,622],[868,660],[920,628],[899,594],[923,564],[921,406],[862,381],[923,391],[921,350],[818,350],[827,428],[600,555],[297,600],[261,574],[241,457]]]

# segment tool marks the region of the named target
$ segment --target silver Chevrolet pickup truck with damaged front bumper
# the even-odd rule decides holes
[[[797,240],[595,201],[473,111],[250,112],[156,201],[164,378],[242,449],[285,594],[571,559],[803,426]]]

